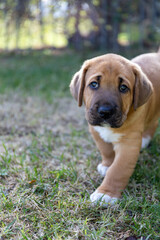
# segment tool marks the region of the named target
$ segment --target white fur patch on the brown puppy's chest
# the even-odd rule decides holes
[[[106,127],[95,126],[94,130],[96,130],[99,133],[99,136],[103,139],[103,141],[108,143],[118,142],[118,140],[123,136],[123,134],[114,133],[112,129],[108,126]]]

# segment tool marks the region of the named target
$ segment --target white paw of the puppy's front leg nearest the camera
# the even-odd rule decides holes
[[[109,195],[100,193],[98,190],[96,190],[91,194],[90,200],[94,205],[99,204],[100,206],[107,208],[109,205],[115,205],[118,201],[118,198],[110,197]]]

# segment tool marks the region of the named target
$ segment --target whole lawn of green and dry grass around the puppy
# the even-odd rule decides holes
[[[160,238],[160,127],[116,207],[89,201],[100,154],[68,90],[86,57],[0,57],[1,240]]]

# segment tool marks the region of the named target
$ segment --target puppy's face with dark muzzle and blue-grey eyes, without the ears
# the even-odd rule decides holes
[[[134,74],[119,61],[95,61],[86,73],[84,102],[91,125],[120,127],[133,102]]]

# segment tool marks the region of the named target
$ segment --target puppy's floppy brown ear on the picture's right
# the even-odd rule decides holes
[[[134,110],[147,102],[153,92],[153,86],[141,68],[134,64],[135,86],[133,95]]]

